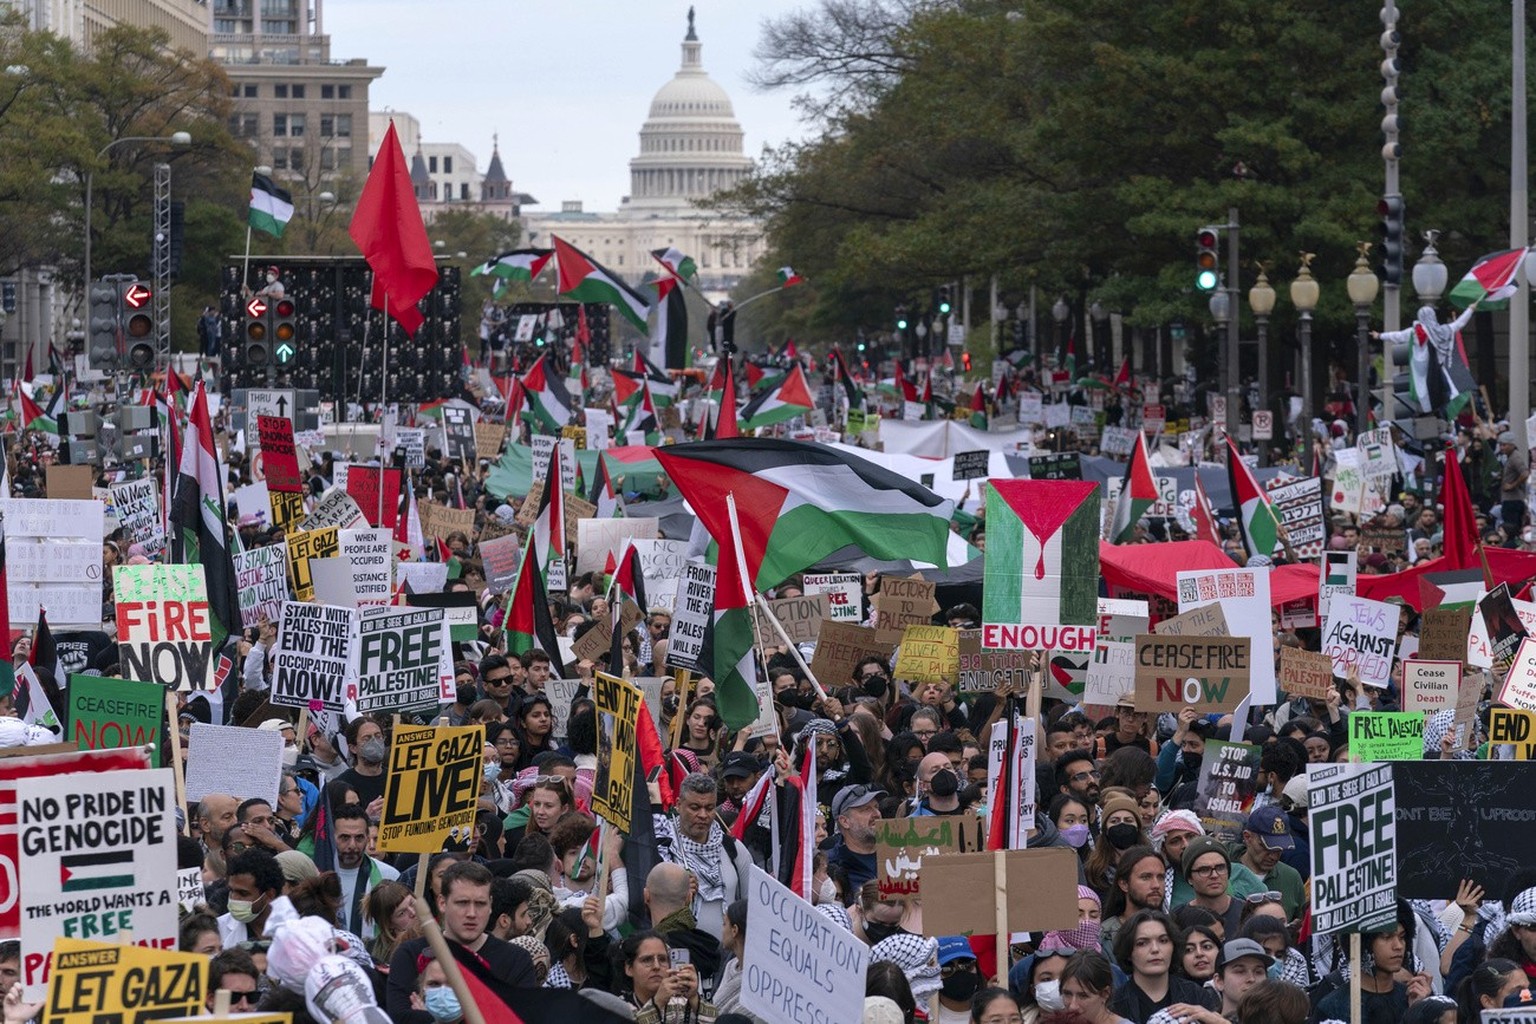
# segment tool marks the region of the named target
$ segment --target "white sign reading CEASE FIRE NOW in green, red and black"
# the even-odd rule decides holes
[[[117,649],[129,679],[207,689],[212,619],[201,565],[117,565]]]

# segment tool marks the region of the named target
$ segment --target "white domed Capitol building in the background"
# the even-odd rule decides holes
[[[699,287],[711,301],[746,276],[763,252],[762,226],[696,206],[753,170],[731,97],[703,71],[702,51],[690,9],[682,66],[651,100],[619,209],[588,212],[579,201],[524,209],[527,244],[548,247],[559,235],[631,282],[660,270],[651,250],[676,247],[699,264]]]

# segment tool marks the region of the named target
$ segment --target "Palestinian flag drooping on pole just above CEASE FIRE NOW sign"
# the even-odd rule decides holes
[[[207,415],[207,393],[198,384],[187,415],[187,434],[181,441],[181,468],[175,505],[170,508],[172,556],[183,565],[203,565],[207,577],[207,606],[214,613],[214,649],[224,637],[240,633],[240,591],[230,559],[224,524],[224,487],[218,476],[214,424]]]

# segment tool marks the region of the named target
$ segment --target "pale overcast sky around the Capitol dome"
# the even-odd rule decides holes
[[[748,157],[808,134],[791,92],[759,92],[746,74],[762,18],[809,2],[696,0],[703,69],[730,94]],[[499,132],[502,166],[533,209],[614,210],[651,97],[682,61],[688,2],[324,0],[321,28],[332,60],[386,69],[372,111],[412,114],[422,141],[462,144],[482,172]]]

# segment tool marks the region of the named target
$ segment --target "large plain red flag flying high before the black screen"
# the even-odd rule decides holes
[[[432,258],[432,243],[421,221],[395,121],[384,132],[347,233],[373,269],[373,309],[384,309],[387,301],[389,315],[415,336],[424,319],[416,302],[438,282],[438,264]]]

